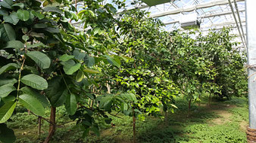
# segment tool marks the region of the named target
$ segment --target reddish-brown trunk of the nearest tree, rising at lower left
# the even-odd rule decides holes
[[[56,118],[56,108],[51,107],[50,127],[48,131],[48,137],[45,139],[44,143],[48,143],[52,138],[52,136],[55,135],[55,130],[56,130],[55,118]]]

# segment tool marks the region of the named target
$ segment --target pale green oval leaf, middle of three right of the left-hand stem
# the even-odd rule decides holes
[[[48,87],[47,81],[39,75],[25,75],[20,79],[23,84],[33,87],[36,90],[45,90]]]

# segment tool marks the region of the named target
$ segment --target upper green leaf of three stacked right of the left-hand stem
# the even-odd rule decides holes
[[[42,69],[49,68],[51,65],[51,59],[45,55],[45,53],[31,51],[27,53],[27,56],[30,56],[30,58],[33,59],[33,61],[35,61],[36,64]]]

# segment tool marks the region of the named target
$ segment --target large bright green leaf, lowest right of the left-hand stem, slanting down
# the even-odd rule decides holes
[[[33,111],[34,114],[37,114],[39,116],[45,115],[45,108],[43,107],[39,99],[36,99],[34,96],[23,93],[19,96],[19,102],[25,108],[29,109],[30,111]]]

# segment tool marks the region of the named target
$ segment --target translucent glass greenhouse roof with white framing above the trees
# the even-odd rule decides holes
[[[142,0],[143,2],[156,0]],[[246,47],[245,31],[245,0],[161,0],[161,5],[148,6],[145,3],[132,5],[134,0],[126,0],[126,10],[138,8],[150,12],[150,17],[161,20],[167,31],[181,29],[180,20],[188,14],[196,14],[201,32],[209,29],[222,29],[223,26],[232,27],[235,39],[241,42],[240,47]],[[111,0],[105,0],[111,3]],[[154,2],[153,2],[154,3]],[[119,9],[118,12],[123,11]]]

